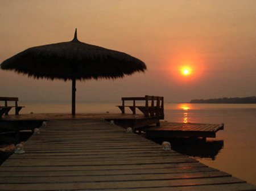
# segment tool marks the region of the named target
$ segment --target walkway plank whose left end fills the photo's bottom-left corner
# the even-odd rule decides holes
[[[204,179],[183,180],[150,180],[150,181],[110,181],[110,182],[65,182],[55,184],[30,183],[30,184],[0,184],[2,190],[72,190],[72,189],[133,189],[133,188],[157,188],[177,187],[191,185],[215,185],[244,182],[234,177],[216,177]]]

